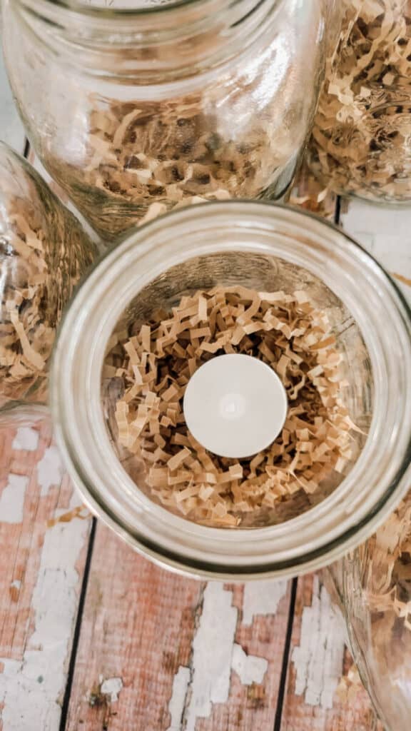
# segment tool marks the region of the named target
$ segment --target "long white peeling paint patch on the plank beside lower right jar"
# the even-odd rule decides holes
[[[312,606],[304,607],[300,646],[293,650],[295,694],[308,705],[333,707],[344,661],[345,624],[333,612],[330,597],[314,577]]]

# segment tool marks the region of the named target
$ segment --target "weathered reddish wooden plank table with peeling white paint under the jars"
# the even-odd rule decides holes
[[[1,69],[0,138],[24,147]],[[411,213],[333,207],[409,294]],[[49,423],[0,431],[0,731],[381,731],[351,672],[317,575],[167,573],[83,509]]]

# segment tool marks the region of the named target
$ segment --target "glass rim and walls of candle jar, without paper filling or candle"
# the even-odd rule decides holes
[[[355,424],[345,469],[331,469],[314,493],[298,489],[233,529],[199,524],[159,504],[141,461],[120,444],[116,421],[124,341],[132,337],[124,349],[134,352],[132,333],[142,332],[140,325],[217,285],[306,292],[330,323],[342,357],[336,393]],[[169,325],[166,320],[166,330]],[[109,251],[70,303],[50,386],[56,440],[91,510],[155,561],[219,579],[306,572],[363,542],[409,485],[410,335],[410,310],[393,281],[330,224],[263,202],[189,206],[140,227]],[[152,352],[145,363],[157,363],[167,379],[169,361],[146,347]],[[248,469],[246,461],[241,466]]]

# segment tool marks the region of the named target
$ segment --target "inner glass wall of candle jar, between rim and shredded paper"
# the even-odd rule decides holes
[[[335,348],[342,355],[339,396],[347,408],[352,425],[355,425],[350,431],[350,459],[342,470],[330,469],[315,491],[298,489],[292,494],[281,496],[272,506],[263,505],[244,512],[238,519],[238,526],[242,529],[284,523],[320,504],[342,483],[366,441],[374,400],[372,364],[358,324],[342,300],[309,270],[283,259],[238,251],[191,258],[165,270],[129,303],[108,342],[101,387],[105,425],[113,450],[135,482],[136,490],[143,491],[158,503],[159,500],[147,483],[146,466],[142,458],[129,452],[119,441],[116,405],[124,395],[124,382],[121,376],[115,374],[116,368],[121,366],[118,343],[124,342],[128,336],[134,336],[142,325],[151,322],[159,308],[170,312],[184,296],[194,295],[198,290],[208,292],[216,286],[241,286],[257,292],[281,291],[286,295],[293,295],[296,291],[306,292],[310,303],[328,317],[329,331],[335,337]],[[214,459],[214,455],[210,456]],[[249,460],[237,462],[245,471],[248,469]],[[225,466],[228,466],[227,462]],[[179,514],[173,507],[167,506],[167,509]],[[193,520],[189,515],[183,517]],[[198,522],[209,524],[203,520]]]

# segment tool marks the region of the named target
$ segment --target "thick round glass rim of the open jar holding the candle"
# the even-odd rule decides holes
[[[230,240],[223,245],[216,242],[216,236],[224,227]],[[247,235],[251,243],[235,238]],[[270,237],[276,237],[276,243],[270,243]],[[173,251],[172,241],[176,242]],[[189,255],[184,251],[187,246]],[[371,330],[374,327],[373,338],[380,338],[375,344],[371,336],[366,339],[377,368],[380,413],[373,417],[358,461],[323,502],[298,518],[263,529],[227,531],[198,526],[171,515],[143,493],[136,496],[135,483],[110,445],[100,405],[105,345],[127,303],[158,273],[193,256],[221,251],[252,251],[279,258],[282,251],[282,258],[293,262],[294,257],[295,263],[311,270],[320,268],[320,276],[334,276],[334,281],[344,265],[347,275],[343,271],[336,294],[362,326],[363,336],[368,323]],[[369,291],[364,293],[367,282]],[[350,292],[342,292],[344,287]],[[397,354],[398,374],[383,369],[385,358],[392,359],[390,367],[395,363],[388,333],[376,329],[380,313],[373,314],[382,297],[385,328],[396,328],[391,336],[403,349]],[[367,298],[371,298],[369,302]],[[364,314],[361,307],[366,308]],[[374,318],[371,324],[368,318]],[[88,343],[86,354],[84,342]],[[379,358],[384,360],[381,368]],[[390,393],[387,384],[385,394],[384,378],[390,373],[395,381],[397,375],[407,385],[404,373],[410,368],[410,308],[388,274],[358,243],[306,211],[264,202],[208,202],[206,207],[200,204],[173,211],[135,230],[99,260],[83,281],[64,317],[53,357],[50,394],[56,439],[69,474],[91,510],[155,561],[191,575],[219,579],[296,575],[330,563],[366,539],[407,491],[411,383],[397,406],[389,400],[392,384]],[[397,447],[388,461],[389,450],[381,446],[387,425],[391,428],[389,442],[396,442]],[[370,474],[373,467],[382,474]]]

